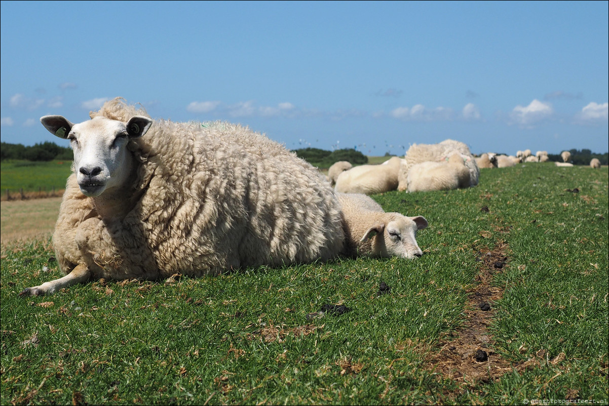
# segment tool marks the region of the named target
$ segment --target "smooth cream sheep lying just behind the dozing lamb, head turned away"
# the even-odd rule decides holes
[[[398,187],[401,158],[393,156],[379,165],[354,166],[340,173],[334,189],[340,193],[366,195],[393,191]]]

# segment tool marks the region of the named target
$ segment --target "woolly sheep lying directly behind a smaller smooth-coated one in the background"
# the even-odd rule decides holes
[[[398,175],[398,191],[406,191],[408,188],[408,173],[410,167],[415,164],[423,163],[426,161],[430,162],[443,162],[446,161],[446,157],[452,153],[460,153],[465,159],[465,167],[470,171],[470,182],[468,186],[476,186],[478,184],[478,177],[480,176],[480,169],[471,155],[470,149],[467,145],[460,141],[454,141],[452,139],[445,139],[438,144],[413,144],[406,152],[404,161],[400,166],[400,173]]]

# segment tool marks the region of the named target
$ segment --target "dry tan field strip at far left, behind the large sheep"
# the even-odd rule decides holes
[[[1,201],[1,245],[51,236],[61,202],[61,197]]]

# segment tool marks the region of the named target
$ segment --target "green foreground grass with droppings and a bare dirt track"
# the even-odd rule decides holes
[[[60,276],[49,240],[3,243],[0,403],[607,404],[608,188],[607,167],[482,170],[374,196],[429,221],[416,261],[47,297],[18,293]]]

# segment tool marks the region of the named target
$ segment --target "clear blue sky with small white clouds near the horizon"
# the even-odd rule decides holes
[[[609,150],[609,2],[2,1],[3,142],[104,100],[289,149]],[[68,144],[66,144],[68,145]]]

